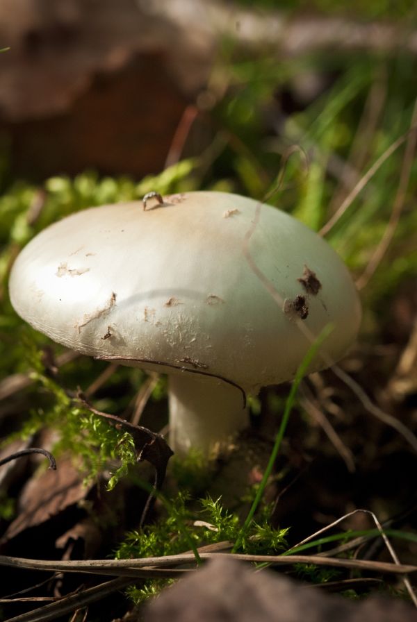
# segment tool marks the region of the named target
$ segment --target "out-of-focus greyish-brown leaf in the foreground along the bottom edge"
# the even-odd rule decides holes
[[[416,610],[396,600],[352,603],[271,571],[216,559],[163,591],[146,622],[415,622]],[[133,622],[133,619],[132,619]]]

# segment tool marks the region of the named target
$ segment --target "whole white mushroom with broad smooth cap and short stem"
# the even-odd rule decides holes
[[[66,217],[19,254],[10,298],[60,344],[167,373],[170,444],[206,456],[247,424],[247,394],[293,379],[332,323],[309,372],[328,367],[361,317],[327,242],[277,208],[223,192],[151,193],[146,205]]]

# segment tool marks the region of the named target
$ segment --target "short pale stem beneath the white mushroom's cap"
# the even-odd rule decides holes
[[[239,389],[217,378],[169,377],[170,446],[177,455],[191,448],[211,457],[249,421]]]

